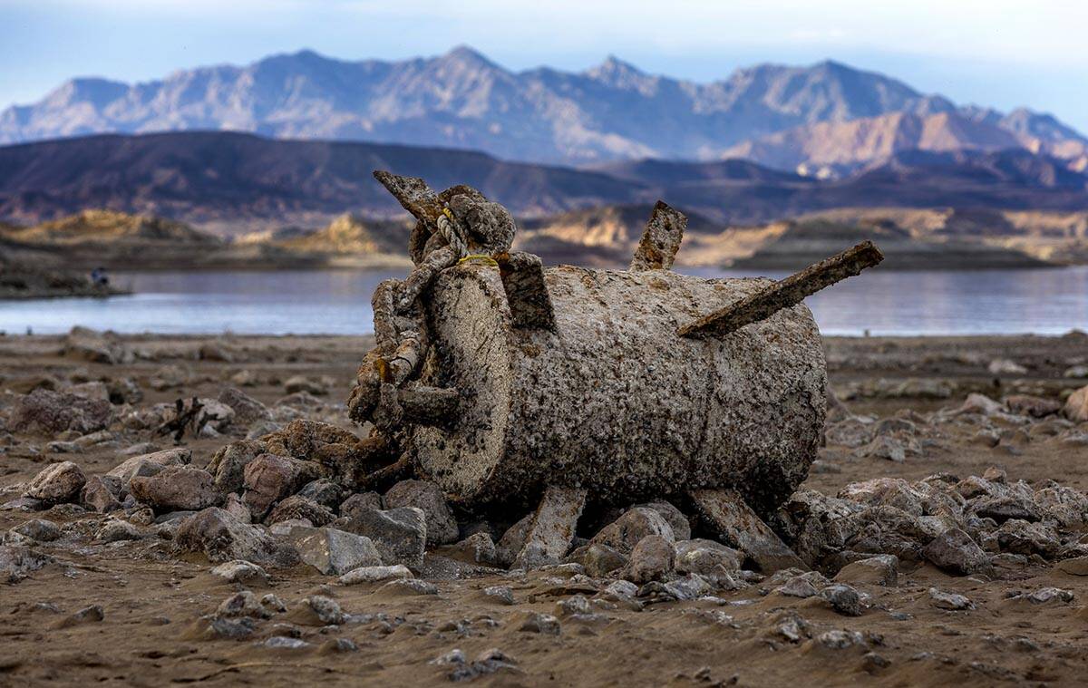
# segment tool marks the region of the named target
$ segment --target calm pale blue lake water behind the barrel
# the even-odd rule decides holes
[[[704,277],[753,272],[688,270]],[[762,273],[781,278],[784,273]],[[136,294],[0,302],[0,330],[74,325],[138,333],[361,334],[382,271],[154,272],[114,275]],[[1088,330],[1088,267],[865,272],[806,300],[826,334],[1062,334]]]

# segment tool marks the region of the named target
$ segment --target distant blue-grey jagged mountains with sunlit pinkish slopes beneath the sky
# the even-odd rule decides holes
[[[833,61],[761,64],[698,84],[614,57],[578,73],[512,72],[467,47],[398,62],[307,50],[141,84],[75,78],[0,112],[0,143],[9,144],[194,130],[453,147],[567,165],[746,158],[816,176],[915,149],[1023,149],[1088,168],[1088,139],[1052,115],[962,107]]]

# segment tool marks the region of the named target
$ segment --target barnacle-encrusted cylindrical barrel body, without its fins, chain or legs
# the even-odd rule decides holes
[[[498,270],[445,270],[426,299],[428,384],[456,422],[412,430],[426,476],[467,505],[531,503],[545,484],[629,502],[739,490],[769,511],[804,480],[824,425],[826,365],[803,305],[721,339],[677,328],[765,286],[667,270],[545,272],[555,331],[511,325]]]

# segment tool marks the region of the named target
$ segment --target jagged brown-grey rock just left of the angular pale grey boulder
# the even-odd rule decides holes
[[[225,511],[206,508],[182,521],[174,537],[181,552],[202,552],[215,563],[245,560],[264,566],[293,566],[299,558],[260,528],[244,524]]]

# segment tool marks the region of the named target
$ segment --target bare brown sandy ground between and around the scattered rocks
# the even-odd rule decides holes
[[[367,337],[124,342],[138,352],[135,363],[64,355],[63,337],[0,339],[3,408],[41,376],[73,382],[127,377],[144,392],[139,406],[181,395],[214,397],[225,385],[245,381],[246,393],[271,407],[285,395],[284,381],[302,374],[327,384],[327,394],[318,397],[321,405],[306,415],[350,427],[342,402],[370,345]],[[1088,336],[829,339],[826,351],[832,386],[850,413],[914,418],[923,427],[929,414],[960,406],[970,392],[998,400],[1024,392],[1055,400],[1067,395],[1085,384],[1063,372],[1088,363]],[[994,359],[1011,359],[1023,370],[991,372]],[[171,377],[163,374],[164,367],[176,367],[184,380],[162,384]],[[1010,481],[1039,487],[1053,479],[1088,491],[1088,445],[1066,441],[1067,429],[1060,439],[1030,428],[1005,433],[991,447],[979,442],[977,429],[935,426],[920,433],[920,455],[901,463],[829,443],[806,487],[834,494],[874,477],[917,480],[940,471],[966,477],[997,467]],[[150,431],[137,434],[77,454],[50,452],[53,438],[11,437],[0,455],[0,502],[18,496],[21,483],[49,462],[73,460],[98,475],[125,458],[121,452],[136,441],[170,446]],[[202,466],[232,439],[187,441],[193,464]],[[772,586],[758,576],[740,590],[632,609],[594,599],[597,590],[564,570],[432,574],[436,595],[404,595],[379,583],[336,586],[335,578],[297,567],[271,572],[268,583],[249,586],[259,595],[274,593],[287,612],[258,622],[248,638],[231,640],[209,637],[201,616],[213,613],[240,583],[218,581],[206,561],[178,558],[170,541],[156,537],[98,542],[94,533],[106,516],[64,507],[0,512],[0,532],[36,517],[61,525],[64,536],[35,544],[58,564],[0,585],[0,686],[441,685],[458,666],[468,666],[435,662],[455,649],[469,662],[497,649],[500,655],[492,655],[497,671],[469,679],[504,686],[1041,686],[1083,685],[1088,675],[1088,577],[1063,573],[1038,557],[999,567],[993,577],[956,577],[905,562],[895,586],[852,581],[871,595],[856,617],[837,614],[814,598],[768,593]],[[484,597],[481,590],[490,586],[508,586],[515,603]],[[968,597],[974,609],[936,607],[928,593],[934,587]],[[1072,592],[1072,602],[1037,605],[1014,597],[1047,587]],[[335,599],[351,615],[349,622],[325,626],[304,613],[300,601],[311,594]],[[557,606],[576,594],[593,600],[592,614],[571,615]],[[73,616],[89,605],[101,607],[101,621]],[[557,616],[559,632],[523,630],[534,612]],[[799,637],[783,635],[783,626],[800,629]],[[850,647],[832,648],[818,640],[830,630],[860,635]],[[307,644],[264,644],[277,636]],[[345,649],[338,639],[349,639],[357,650]]]

